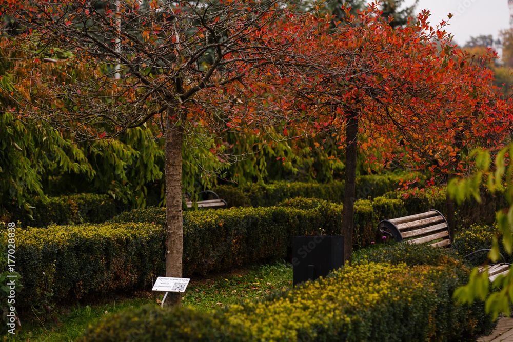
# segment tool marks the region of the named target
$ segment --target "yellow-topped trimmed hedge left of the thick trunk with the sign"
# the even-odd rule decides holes
[[[6,242],[7,233],[2,234]],[[16,307],[148,289],[165,274],[166,231],[151,224],[50,225],[16,229]],[[19,301],[18,301],[19,299]]]

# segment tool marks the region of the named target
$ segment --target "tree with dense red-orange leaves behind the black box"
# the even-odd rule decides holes
[[[443,30],[446,23],[432,28],[424,12],[415,23],[392,29],[377,6],[358,17],[347,11],[351,25],[335,29],[329,27],[329,18],[312,15],[254,31],[253,39],[282,32],[280,40],[268,41],[273,49],[303,44],[289,45],[294,50],[260,66],[250,75],[257,77],[241,89],[252,94],[249,98],[267,98],[247,102],[246,116],[252,120],[279,122],[281,116],[285,135],[292,129],[304,135],[324,133],[345,143],[346,260],[356,243],[358,144],[377,162],[395,160],[447,174],[465,169],[457,159],[464,146],[482,144],[483,139],[500,145],[510,133],[511,102],[499,98],[489,72],[451,45]],[[269,108],[274,109],[271,117]],[[228,124],[240,122],[233,118]]]

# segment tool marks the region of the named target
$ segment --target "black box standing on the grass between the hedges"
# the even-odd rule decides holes
[[[344,236],[292,237],[292,283],[325,277],[344,265]]]

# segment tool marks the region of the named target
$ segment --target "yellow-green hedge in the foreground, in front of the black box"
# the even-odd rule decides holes
[[[361,261],[326,279],[211,314],[146,306],[102,318],[78,340],[461,341],[494,327],[483,303],[452,299],[469,274],[454,254],[407,245],[387,251],[407,261],[410,253],[425,252],[441,263]]]

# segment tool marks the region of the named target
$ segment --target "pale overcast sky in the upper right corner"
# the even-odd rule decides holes
[[[405,1],[408,6],[413,3],[414,0]],[[431,13],[430,25],[433,27],[447,20],[447,14],[453,14],[446,31],[454,35],[461,46],[470,36],[491,34],[497,39],[500,29],[509,28],[507,0],[419,0],[416,13],[423,9]]]

